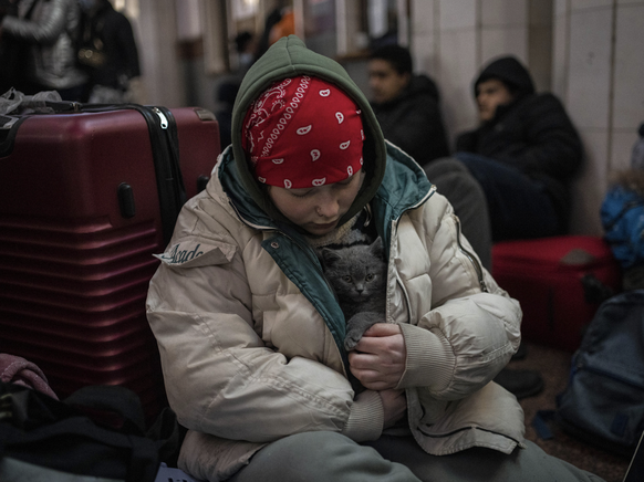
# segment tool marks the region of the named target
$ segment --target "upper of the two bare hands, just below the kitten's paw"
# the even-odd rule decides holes
[[[349,353],[351,373],[371,390],[395,388],[407,359],[407,349],[401,327],[391,323],[376,323]]]

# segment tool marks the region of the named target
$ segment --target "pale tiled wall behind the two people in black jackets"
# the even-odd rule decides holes
[[[471,81],[497,55],[560,96],[586,150],[571,230],[601,234],[607,174],[644,122],[644,0],[413,0],[412,18],[416,70],[438,83],[451,139],[476,125]]]

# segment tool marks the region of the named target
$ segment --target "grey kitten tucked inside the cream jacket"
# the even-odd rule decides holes
[[[373,324],[385,322],[387,264],[383,242],[377,238],[371,244],[324,248],[320,258],[347,319],[344,347],[351,350]]]

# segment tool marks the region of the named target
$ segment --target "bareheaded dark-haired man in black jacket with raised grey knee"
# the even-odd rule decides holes
[[[489,270],[491,232],[485,193],[467,168],[445,157],[449,147],[436,84],[413,73],[412,55],[401,45],[381,46],[371,54],[368,78],[371,105],[385,139],[425,168],[438,192],[449,199],[464,234]]]

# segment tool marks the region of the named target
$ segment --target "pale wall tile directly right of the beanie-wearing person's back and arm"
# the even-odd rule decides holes
[[[600,208],[606,193],[606,130],[580,130],[585,159],[572,184],[570,230],[573,234],[601,235]]]

